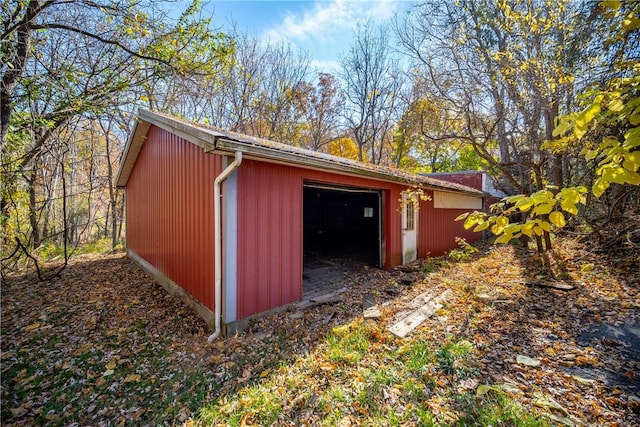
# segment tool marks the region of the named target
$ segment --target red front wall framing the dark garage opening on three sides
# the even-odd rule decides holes
[[[380,190],[386,245],[384,267],[401,264],[397,201],[405,186],[255,160],[243,161],[238,173],[239,319],[302,298],[305,181]]]

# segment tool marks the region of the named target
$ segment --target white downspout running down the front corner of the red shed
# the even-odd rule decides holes
[[[216,328],[213,331],[213,334],[209,336],[208,341],[212,342],[216,338],[220,336],[221,328],[220,328],[220,318],[222,317],[222,218],[220,216],[221,208],[221,198],[220,198],[220,188],[222,187],[222,181],[227,179],[229,175],[231,175],[242,163],[242,152],[236,151],[236,157],[231,162],[229,166],[222,171],[220,175],[218,175],[213,182],[213,218],[214,218],[214,228],[213,228],[213,238],[214,238],[214,252],[215,252],[215,261],[214,261],[214,275],[215,275],[215,325]]]

